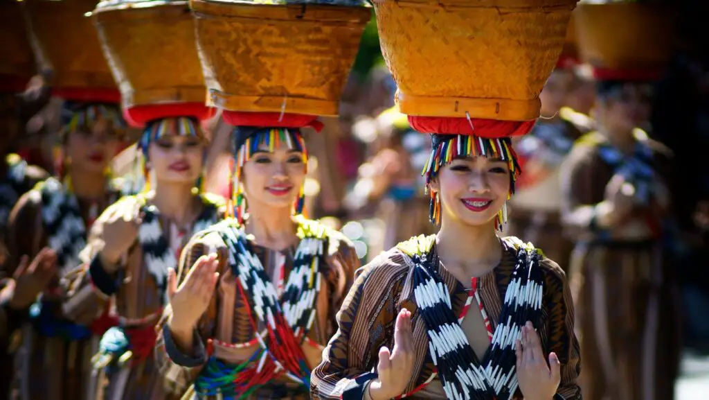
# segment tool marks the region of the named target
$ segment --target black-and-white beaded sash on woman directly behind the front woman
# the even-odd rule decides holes
[[[246,293],[252,296],[254,311],[261,323],[278,330],[277,316],[283,315],[296,337],[304,340],[316,316],[316,298],[320,291],[320,262],[327,233],[318,222],[298,220],[298,244],[280,300],[259,258],[252,251],[244,230],[234,221],[218,227],[229,249],[229,265]],[[257,339],[262,338],[257,333]],[[264,343],[261,343],[264,345]]]

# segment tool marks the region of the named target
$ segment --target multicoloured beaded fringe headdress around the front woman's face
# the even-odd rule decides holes
[[[515,193],[515,181],[521,170],[510,138],[485,139],[467,135],[435,135],[434,137],[433,149],[423,171],[421,171],[421,175],[426,178],[427,187],[428,183],[438,175],[440,169],[455,158],[483,156],[507,161],[510,168],[510,193],[508,193],[507,200]],[[431,200],[428,217],[432,224],[438,225],[440,224],[440,198],[437,193],[430,192],[429,194]],[[496,218],[496,229],[501,229],[506,222],[507,212],[506,207],[503,207]]]

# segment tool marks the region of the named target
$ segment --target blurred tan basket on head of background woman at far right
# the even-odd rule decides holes
[[[576,36],[586,63],[609,69],[658,69],[671,55],[673,14],[650,4],[579,4]]]

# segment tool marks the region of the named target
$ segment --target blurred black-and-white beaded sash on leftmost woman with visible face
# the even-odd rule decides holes
[[[55,178],[40,183],[42,221],[47,244],[57,253],[60,274],[79,264],[79,252],[86,246],[86,224],[79,200]]]

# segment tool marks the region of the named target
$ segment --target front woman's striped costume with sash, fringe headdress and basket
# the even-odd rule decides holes
[[[383,53],[399,87],[398,106],[413,129],[432,133],[423,172],[427,183],[454,158],[485,156],[508,163],[512,195],[520,168],[510,136],[527,134],[539,116],[538,95],[555,61],[549,55],[561,50],[559,33],[575,1],[557,1],[550,8],[520,4],[511,10],[492,3],[381,0],[374,6]],[[525,43],[535,43],[535,50]],[[486,49],[495,49],[498,63],[489,62],[492,50]],[[440,198],[432,192],[431,221],[440,222],[441,212]],[[505,222],[503,208],[496,227]],[[396,315],[406,308],[412,313],[414,364],[397,398],[522,399],[515,340],[529,320],[544,351],[556,352],[562,364],[554,399],[581,399],[574,311],[564,272],[532,244],[516,237],[500,240],[500,264],[472,278],[470,289],[442,266],[435,235],[402,242],[364,266],[337,314],[340,329],[313,372],[311,396],[369,398],[379,349],[392,348]],[[484,324],[479,335],[462,328],[467,318],[476,318],[476,313],[467,316],[469,310],[479,311]],[[476,354],[472,340],[488,350]]]

